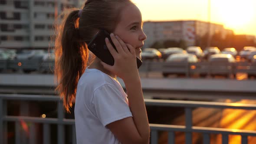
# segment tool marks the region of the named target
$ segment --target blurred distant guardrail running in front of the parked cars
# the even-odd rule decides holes
[[[37,71],[39,73],[53,73],[54,60],[0,60],[0,70],[23,71],[29,73]],[[250,62],[150,62],[144,61],[139,69],[140,72],[161,72],[164,77],[170,74],[186,75],[200,75],[205,77],[207,75],[223,75],[229,78],[230,75],[236,76],[236,73],[243,72],[248,74],[248,78],[256,76],[256,63]]]

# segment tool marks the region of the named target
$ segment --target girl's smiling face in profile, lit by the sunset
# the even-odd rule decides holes
[[[121,10],[120,17],[121,19],[113,33],[118,35],[125,43],[133,46],[136,56],[141,59],[141,48],[147,38],[142,30],[141,12],[138,7],[130,4]]]

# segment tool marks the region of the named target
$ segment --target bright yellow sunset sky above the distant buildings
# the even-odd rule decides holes
[[[208,21],[208,0],[132,0],[144,21]],[[211,0],[211,22],[235,34],[256,36],[256,0]]]

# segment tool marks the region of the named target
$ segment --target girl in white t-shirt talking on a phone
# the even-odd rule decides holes
[[[130,0],[88,0],[82,10],[64,17],[58,28],[56,90],[67,111],[75,101],[77,144],[148,144],[149,124],[136,64],[146,39],[138,7]],[[111,33],[117,48],[105,39],[115,60],[112,66],[87,48],[99,29]]]

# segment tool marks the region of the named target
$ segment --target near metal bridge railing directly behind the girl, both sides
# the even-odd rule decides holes
[[[56,101],[57,102],[57,118],[38,118],[30,116],[9,116],[7,115],[7,101]],[[248,143],[248,136],[256,137],[256,131],[245,130],[233,130],[226,128],[208,128],[208,127],[195,127],[192,125],[192,109],[203,108],[232,108],[232,109],[245,109],[256,110],[256,105],[249,104],[237,104],[237,103],[221,103],[221,102],[205,102],[205,101],[173,101],[173,100],[151,100],[145,99],[147,106],[167,106],[167,107],[181,107],[185,108],[185,126],[180,125],[166,125],[166,124],[150,124],[151,129],[151,144],[158,144],[158,131],[168,131],[168,144],[174,144],[176,131],[185,132],[186,144],[191,144],[192,132],[198,132],[203,134],[203,144],[210,144],[210,134],[221,134],[222,144],[228,144],[228,137],[230,134],[241,135],[241,143]],[[75,123],[73,119],[64,118],[64,112],[62,108],[62,101],[56,96],[44,96],[44,95],[6,95],[0,94],[0,143],[7,144],[7,122],[15,122],[15,144],[21,144],[20,139],[20,127],[22,121],[31,122],[29,131],[29,144],[35,144],[36,142],[36,129],[35,123],[43,124],[43,144],[49,144],[50,124],[57,124],[57,139],[58,144],[64,144],[64,125],[72,127],[72,144],[75,144]],[[21,121],[22,120],[22,121]]]

